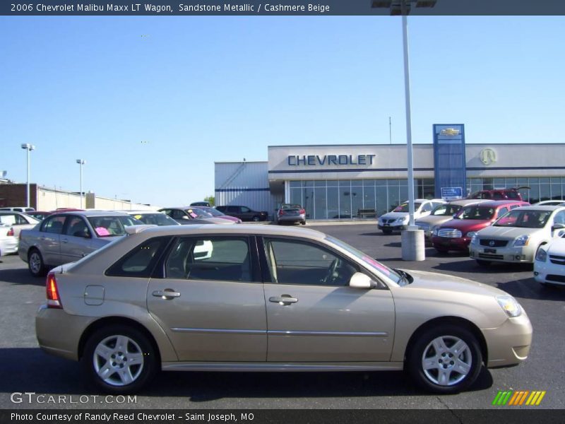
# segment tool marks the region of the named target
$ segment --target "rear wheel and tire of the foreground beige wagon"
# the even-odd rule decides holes
[[[118,346],[119,338],[126,341],[126,344]],[[95,354],[98,346],[106,347],[108,360]],[[133,356],[141,360],[141,364],[126,367],[126,364],[133,360]],[[110,363],[110,361],[115,362]],[[155,348],[148,337],[138,329],[123,324],[114,324],[95,331],[86,341],[81,358],[83,372],[88,375],[90,381],[103,391],[112,394],[136,393],[155,377],[158,365]],[[105,368],[108,369],[107,378],[102,379],[98,373],[103,372]],[[124,380],[120,375],[120,371],[125,372],[124,368],[128,368],[127,374],[131,377],[131,382],[127,381],[129,377]]]

